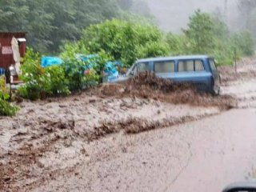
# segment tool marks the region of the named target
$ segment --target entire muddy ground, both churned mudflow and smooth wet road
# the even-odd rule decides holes
[[[0,119],[0,191],[220,191],[253,178],[254,62],[238,69],[248,76],[225,69],[222,87],[238,105],[191,90],[166,97],[164,86],[22,102]]]

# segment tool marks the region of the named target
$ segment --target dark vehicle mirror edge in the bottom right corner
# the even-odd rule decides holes
[[[255,192],[256,182],[236,182],[227,186],[223,192]]]

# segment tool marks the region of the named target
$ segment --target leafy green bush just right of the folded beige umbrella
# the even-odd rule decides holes
[[[37,100],[47,96],[70,94],[69,82],[62,66],[42,68],[40,55],[30,48],[26,50],[23,60],[21,78],[25,85],[18,89],[23,98]]]

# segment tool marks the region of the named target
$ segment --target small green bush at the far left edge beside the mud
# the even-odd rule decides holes
[[[0,115],[14,116],[18,112],[18,106],[14,106],[6,100],[10,96],[6,90],[6,82],[4,77],[0,77]]]

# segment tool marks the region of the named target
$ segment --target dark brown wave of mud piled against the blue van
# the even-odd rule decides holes
[[[102,97],[153,98],[173,104],[218,106],[222,110],[229,110],[237,105],[230,95],[199,93],[193,85],[174,83],[150,73],[138,74],[123,84],[103,85],[96,93]]]

